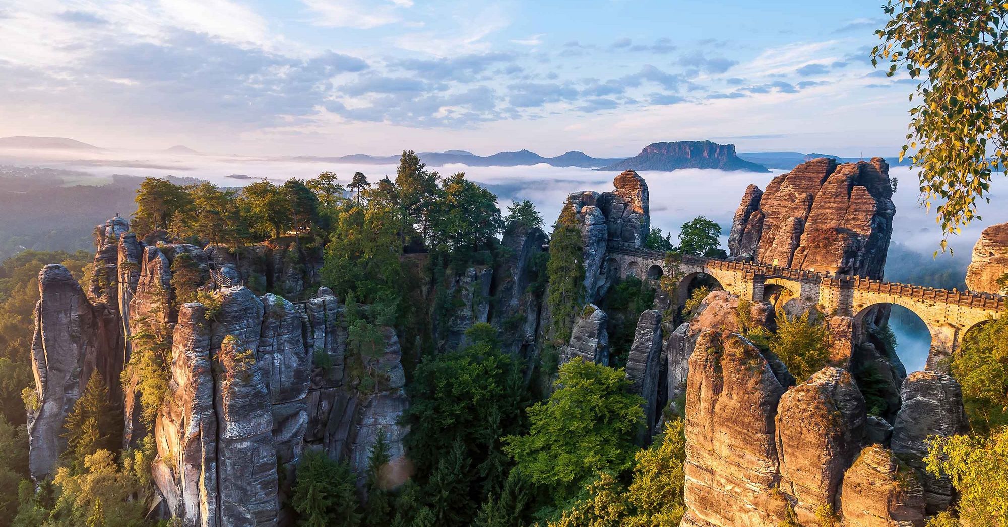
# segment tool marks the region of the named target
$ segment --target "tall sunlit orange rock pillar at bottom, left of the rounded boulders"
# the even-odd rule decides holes
[[[784,518],[774,414],[784,386],[751,343],[705,331],[686,387],[684,526],[765,527]]]

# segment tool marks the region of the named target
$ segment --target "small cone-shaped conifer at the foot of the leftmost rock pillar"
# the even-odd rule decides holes
[[[64,423],[67,452],[64,458],[75,472],[84,469],[87,458],[99,451],[114,451],[122,431],[121,415],[109,402],[109,388],[97,371],[91,374],[84,393]]]

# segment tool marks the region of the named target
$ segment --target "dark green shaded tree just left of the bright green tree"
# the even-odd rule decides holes
[[[413,372],[406,386],[410,404],[404,418],[410,431],[405,444],[421,479],[436,470],[453,446],[464,446],[478,475],[467,482],[467,492],[482,501],[490,488],[503,483],[507,460],[500,437],[521,431],[525,395],[518,363],[494,346],[496,335],[474,329],[472,345],[428,355]]]

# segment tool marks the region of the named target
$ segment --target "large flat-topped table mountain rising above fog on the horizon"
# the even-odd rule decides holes
[[[652,143],[640,154],[599,170],[677,170],[680,168],[713,168],[768,172],[758,163],[746,161],[735,154],[735,145],[719,145],[710,141],[676,141]]]

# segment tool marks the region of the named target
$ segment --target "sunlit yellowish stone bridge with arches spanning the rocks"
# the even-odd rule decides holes
[[[814,270],[793,270],[763,264],[728,261],[700,256],[682,256],[666,262],[665,252],[635,248],[625,244],[610,244],[606,273],[620,278],[636,276],[656,280],[672,275],[679,280],[677,288],[679,305],[685,301],[688,284],[695,277],[705,274],[716,280],[725,291],[741,299],[767,300],[770,291],[787,291],[789,296],[814,302],[824,313],[833,316],[831,326],[835,346],[850,357],[850,343],[857,332],[863,331],[861,322],[870,308],[896,304],[915,313],[931,334],[931,348],[927,369],[944,370],[948,358],[970,328],[997,319],[1005,309],[1006,298],[998,295],[977,294],[895,284],[861,277],[836,276]],[[837,338],[837,337],[840,338]]]

